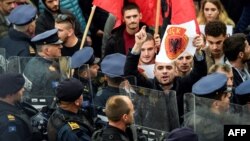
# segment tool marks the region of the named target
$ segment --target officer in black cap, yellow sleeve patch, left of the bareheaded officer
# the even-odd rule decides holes
[[[50,141],[86,141],[90,140],[93,127],[81,111],[83,85],[75,78],[65,79],[56,88],[59,107],[48,121]]]

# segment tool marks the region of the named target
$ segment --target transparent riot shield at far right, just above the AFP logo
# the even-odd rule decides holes
[[[223,141],[224,125],[249,125],[241,105],[184,95],[184,126],[194,129],[199,141]]]

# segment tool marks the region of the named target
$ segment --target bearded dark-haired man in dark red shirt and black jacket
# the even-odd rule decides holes
[[[126,55],[135,43],[135,33],[144,25],[140,22],[142,13],[135,3],[127,3],[122,8],[123,24],[111,32],[104,56],[121,53]]]

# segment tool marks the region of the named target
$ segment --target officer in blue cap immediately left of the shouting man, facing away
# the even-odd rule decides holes
[[[119,86],[124,81],[126,56],[120,53],[107,55],[101,62],[101,71],[105,75],[107,86],[101,88],[94,98],[97,106],[105,107],[109,97],[119,94]]]

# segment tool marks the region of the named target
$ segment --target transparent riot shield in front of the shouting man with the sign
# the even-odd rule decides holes
[[[130,92],[121,87],[120,93],[128,95],[134,104],[134,123],[137,136],[144,140],[162,140],[166,134],[179,127],[175,91],[129,86]]]

